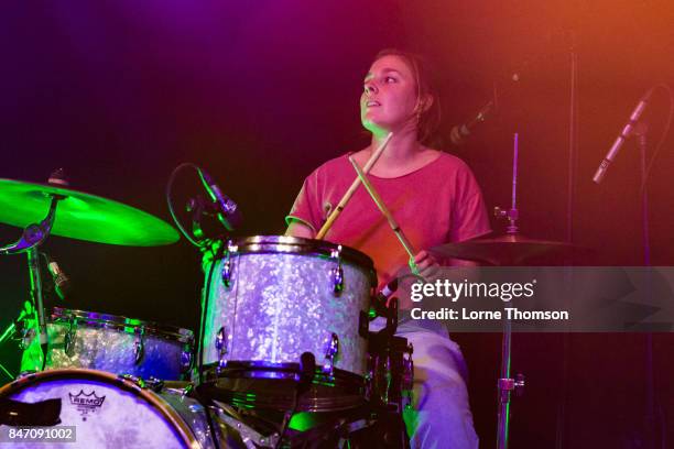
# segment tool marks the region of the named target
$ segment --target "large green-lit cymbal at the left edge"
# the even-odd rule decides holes
[[[167,222],[131,206],[51,184],[0,178],[0,222],[19,228],[46,217],[52,196],[58,201],[52,234],[98,243],[156,247],[180,236]]]

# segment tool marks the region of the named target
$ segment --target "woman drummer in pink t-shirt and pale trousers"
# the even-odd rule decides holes
[[[286,234],[314,238],[356,177],[348,156],[365,166],[389,133],[392,138],[368,178],[413,248],[421,250],[414,261],[422,276],[438,269],[426,249],[490,232],[482,195],[468,166],[428,146],[439,113],[439,98],[423,61],[398,50],[380,52],[360,96],[360,118],[371,133],[370,145],[326,162],[305,179],[286,218]],[[410,259],[362,186],[325,240],[370,255],[380,287],[398,276]],[[411,308],[409,297],[400,299],[402,309]],[[412,447],[477,448],[458,344],[441,326],[404,318],[398,335],[414,346],[415,412],[404,416]]]

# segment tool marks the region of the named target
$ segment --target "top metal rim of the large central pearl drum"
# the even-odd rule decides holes
[[[318,255],[331,259],[334,251],[339,247],[341,259],[355,263],[368,271],[374,270],[372,259],[354,248],[339,245],[325,240],[303,239],[300,237],[287,236],[253,236],[231,240],[231,245],[236,248],[232,252],[241,254],[254,253],[291,253],[303,255]]]

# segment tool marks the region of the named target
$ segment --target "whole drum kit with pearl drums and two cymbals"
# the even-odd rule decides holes
[[[207,206],[231,212],[217,186],[202,180],[211,187]],[[191,201],[193,212],[208,210],[199,201]],[[193,234],[203,238],[194,217]],[[0,425],[74,426],[76,443],[64,447],[409,447],[402,413],[413,348],[394,336],[396,305],[378,304],[366,254],[281,236],[188,238],[205,253],[195,338],[101,313],[47,313],[42,298],[39,247],[50,234],[163,245],[178,240],[168,223],[75,190],[58,173],[46,184],[0,179],[0,222],[24,228],[0,254],[28,255],[32,299],[0,337],[23,349],[22,373],[0,387]],[[564,248],[510,236],[435,252],[512,262]],[[378,316],[387,325],[372,332]]]

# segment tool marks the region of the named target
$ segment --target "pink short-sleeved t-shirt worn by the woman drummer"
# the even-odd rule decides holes
[[[357,174],[348,154],[316,168],[304,182],[286,221],[318,232]],[[368,175],[416,251],[490,232],[480,188],[458,157],[441,153],[425,166],[395,178]],[[385,217],[360,185],[325,240],[362,251],[374,261],[380,286],[407,266],[407,254]]]

